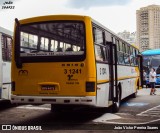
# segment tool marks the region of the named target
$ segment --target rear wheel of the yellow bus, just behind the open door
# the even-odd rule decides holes
[[[112,105],[112,112],[113,113],[116,113],[119,111],[120,103],[121,103],[121,93],[120,93],[120,89],[118,89],[118,101],[114,102]]]

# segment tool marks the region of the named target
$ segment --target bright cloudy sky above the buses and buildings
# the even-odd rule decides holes
[[[5,4],[9,1],[13,4]],[[151,4],[160,5],[160,0],[0,0],[0,26],[13,31],[15,18],[78,14],[91,16],[115,33],[134,32],[136,10]]]

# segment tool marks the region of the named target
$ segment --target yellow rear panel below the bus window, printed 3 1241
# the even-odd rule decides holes
[[[81,64],[84,67],[81,67]],[[63,66],[64,65],[64,66]],[[69,66],[67,66],[69,65]],[[73,66],[72,66],[73,65]],[[41,67],[39,67],[41,66]],[[16,95],[84,96],[86,78],[85,63],[27,63],[14,75],[17,77]],[[43,86],[55,85],[45,90]],[[23,87],[23,88],[22,88]],[[52,90],[53,89],[53,90]]]

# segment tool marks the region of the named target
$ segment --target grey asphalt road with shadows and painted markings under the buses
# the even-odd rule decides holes
[[[149,93],[150,89],[139,90],[137,98],[123,100],[119,112],[115,114],[110,109],[95,108],[51,113],[49,104],[6,106],[0,103],[0,129],[2,125],[11,125],[13,130],[42,129],[47,133],[116,132],[125,128],[155,128],[152,130],[158,132],[156,128],[160,130],[160,89],[157,88],[157,95]]]

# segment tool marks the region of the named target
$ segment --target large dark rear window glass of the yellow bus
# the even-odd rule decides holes
[[[20,57],[83,55],[84,23],[53,21],[20,26]]]

